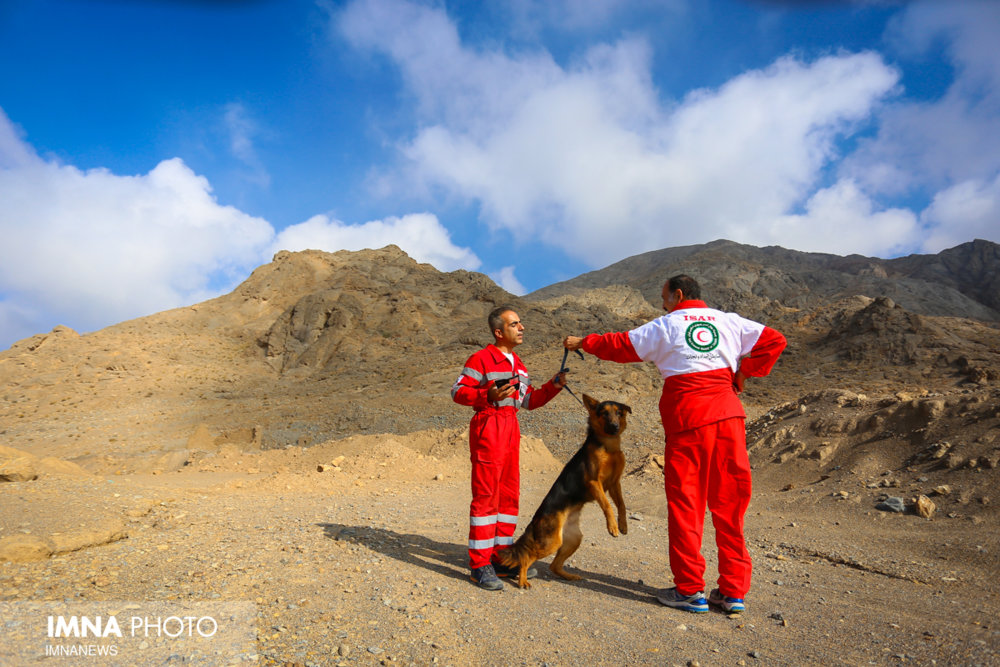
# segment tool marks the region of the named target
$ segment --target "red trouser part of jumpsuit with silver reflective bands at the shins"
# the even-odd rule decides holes
[[[469,506],[469,566],[496,563],[514,543],[521,492],[521,427],[513,408],[487,408],[469,423],[472,503]]]

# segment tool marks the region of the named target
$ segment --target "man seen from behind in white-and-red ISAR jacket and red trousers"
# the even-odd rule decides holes
[[[666,315],[629,332],[567,336],[563,345],[609,361],[652,361],[660,369],[674,586],[657,599],[685,611],[708,611],[712,603],[740,612],[750,589],[743,517],[751,483],[746,413],[737,394],[747,377],[771,371],[786,341],[774,329],[709,308],[700,298],[694,278],[674,276],[663,286]],[[701,555],[706,506],[719,551],[719,587],[708,600]]]

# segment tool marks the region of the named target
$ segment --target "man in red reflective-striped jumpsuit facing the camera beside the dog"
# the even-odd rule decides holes
[[[509,306],[490,313],[494,342],[476,352],[451,389],[452,399],[475,410],[469,423],[472,459],[472,504],[469,507],[469,566],[472,580],[487,590],[500,590],[499,576],[517,568],[499,564],[497,554],[514,543],[521,473],[521,429],[517,410],[534,410],[566,386],[558,373],[538,389],[514,348],[524,342],[524,325]],[[534,569],[528,576],[535,574]]]

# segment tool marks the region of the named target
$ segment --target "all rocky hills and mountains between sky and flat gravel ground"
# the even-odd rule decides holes
[[[1000,377],[998,314],[980,285],[995,280],[996,253],[976,241],[885,261],[718,241],[646,253],[518,298],[482,274],[442,273],[394,246],[281,252],[219,298],[83,336],[57,327],[0,353],[0,444],[135,466],[195,441],[268,449],[460,429],[469,414],[450,387],[490,341],[485,319],[496,305],[512,304],[525,322],[519,354],[540,384],[559,368],[565,334],[658,316],[662,280],[679,271],[700,278],[710,302],[789,338],[772,376],[744,394],[751,416],[817,386],[982,386]],[[661,446],[654,368],[593,358],[571,367],[576,393],[631,404],[637,444]],[[522,423],[561,456],[576,447],[579,412],[564,393]]]

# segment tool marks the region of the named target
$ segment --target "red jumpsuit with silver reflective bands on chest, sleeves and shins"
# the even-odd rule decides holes
[[[538,390],[516,354],[511,360],[495,345],[487,345],[465,362],[451,389],[452,399],[475,409],[469,423],[472,459],[472,504],[469,507],[469,565],[472,569],[497,562],[497,552],[514,543],[521,488],[518,408],[534,410],[548,403],[559,388],[546,382]],[[497,380],[514,377],[518,391],[499,403],[486,392]]]

